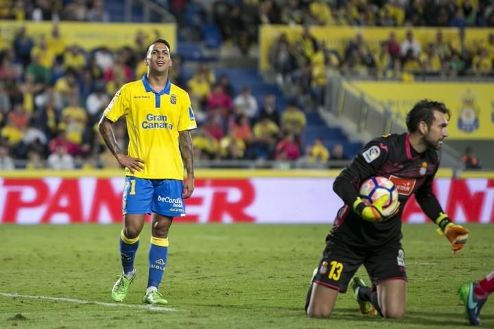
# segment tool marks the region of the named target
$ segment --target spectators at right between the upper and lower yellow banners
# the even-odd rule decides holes
[[[334,72],[403,81],[414,80],[417,75],[494,76],[494,32],[479,45],[473,45],[467,38],[467,29],[460,27],[456,37],[447,42],[438,29],[434,40],[423,45],[409,29],[403,40],[390,32],[379,49],[372,49],[362,33],[357,32],[340,54],[323,40],[317,40],[309,25],[305,25],[294,42],[281,34],[270,47],[268,60],[281,86],[292,84],[296,93],[309,95],[313,103],[322,105],[327,76]]]

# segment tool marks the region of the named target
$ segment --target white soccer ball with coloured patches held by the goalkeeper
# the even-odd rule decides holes
[[[360,186],[359,194],[360,199],[368,206],[373,204],[379,197],[388,194],[390,196],[389,202],[384,205],[382,211],[384,217],[392,215],[399,206],[397,188],[386,177],[375,176],[369,178]]]

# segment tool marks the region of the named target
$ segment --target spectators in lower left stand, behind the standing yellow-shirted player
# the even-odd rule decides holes
[[[19,28],[0,47],[0,169],[118,167],[97,123],[118,88],[145,74],[145,47],[157,37],[138,32],[128,47],[85,51],[64,40],[57,24],[36,41]],[[198,160],[329,158],[322,144],[314,154],[301,149],[306,117],[296,101],[281,109],[266,95],[258,104],[249,86],[235,90],[207,62],[190,77],[180,56],[173,54],[172,62],[170,80],[188,91],[196,113]],[[115,135],[126,149],[125,121],[115,125]]]

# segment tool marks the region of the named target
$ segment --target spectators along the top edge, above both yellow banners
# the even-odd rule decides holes
[[[185,35],[207,26],[247,53],[260,25],[493,27],[493,0],[154,0]],[[0,0],[0,19],[111,20],[104,0]],[[426,47],[427,45],[423,45]],[[406,56],[406,53],[401,53]],[[417,58],[419,60],[419,58]]]

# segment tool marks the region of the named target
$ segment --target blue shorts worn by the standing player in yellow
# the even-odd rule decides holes
[[[156,212],[167,217],[185,216],[181,180],[148,180],[126,176],[122,212],[150,214]]]

